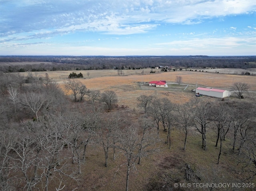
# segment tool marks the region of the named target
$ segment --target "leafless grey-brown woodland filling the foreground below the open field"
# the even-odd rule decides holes
[[[134,109],[118,99],[113,90],[87,89],[68,76],[61,89],[47,73],[40,79],[0,73],[1,189],[128,191],[136,188],[136,169],[144,171],[144,163],[152,170],[138,190],[187,190],[174,188],[177,181],[255,183],[255,97],[176,104],[141,95],[130,100]],[[198,155],[194,162],[181,157],[190,149]],[[105,185],[86,168],[101,174]],[[219,168],[229,170],[228,177]]]

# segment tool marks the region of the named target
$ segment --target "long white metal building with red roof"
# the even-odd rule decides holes
[[[196,94],[202,94],[212,97],[224,98],[229,96],[229,91],[221,90],[221,89],[214,89],[214,88],[202,88],[198,87],[196,89]]]

